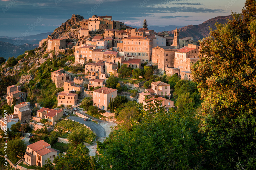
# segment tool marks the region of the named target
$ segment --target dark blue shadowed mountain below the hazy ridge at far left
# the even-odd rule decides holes
[[[21,54],[24,54],[26,50],[35,49],[39,44],[23,44],[20,46],[13,45],[8,42],[0,41],[0,57],[4,57],[6,60],[9,57],[17,57]]]

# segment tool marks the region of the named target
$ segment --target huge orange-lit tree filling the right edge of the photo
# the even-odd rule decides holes
[[[201,60],[191,68],[204,99],[202,130],[212,168],[255,168],[255,5],[247,0],[244,17],[235,13],[227,24],[216,24],[200,41]]]

